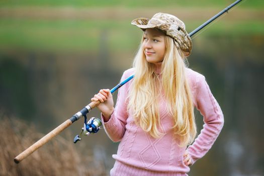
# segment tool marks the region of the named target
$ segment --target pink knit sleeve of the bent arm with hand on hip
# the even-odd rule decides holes
[[[204,125],[194,143],[187,148],[193,163],[203,157],[212,147],[224,124],[223,113],[205,77],[200,75],[197,79],[196,108],[204,117]]]

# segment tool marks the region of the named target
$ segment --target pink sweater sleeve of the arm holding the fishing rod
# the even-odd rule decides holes
[[[126,72],[124,72],[121,81],[125,80],[127,77]],[[124,84],[118,90],[116,106],[108,122],[105,122],[104,116],[101,113],[105,131],[109,138],[114,142],[121,141],[126,131],[126,120],[128,118],[126,101],[127,96],[128,83]]]

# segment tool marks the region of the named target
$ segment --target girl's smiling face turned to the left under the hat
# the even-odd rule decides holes
[[[165,34],[156,29],[146,29],[143,37],[143,51],[146,60],[161,65],[165,55]]]

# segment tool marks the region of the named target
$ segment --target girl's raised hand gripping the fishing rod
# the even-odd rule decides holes
[[[103,113],[105,122],[108,122],[111,114],[114,111],[114,101],[109,89],[102,89],[91,101],[100,101],[97,108]]]

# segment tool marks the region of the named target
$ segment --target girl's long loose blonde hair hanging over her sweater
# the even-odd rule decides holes
[[[161,77],[155,72],[155,65],[147,62],[142,48],[134,58],[135,76],[129,92],[128,109],[132,110],[134,122],[152,137],[164,135],[160,132],[158,95],[161,89],[167,100],[167,112],[173,117],[173,129],[180,146],[191,144],[197,130],[194,105],[188,80],[185,75],[187,66],[183,53],[172,38],[165,36],[165,55],[161,64]]]

